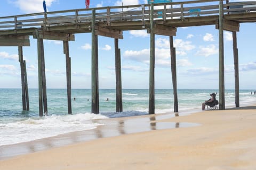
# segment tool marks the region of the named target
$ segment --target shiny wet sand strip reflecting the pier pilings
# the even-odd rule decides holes
[[[196,123],[157,122],[157,120],[164,120],[166,118],[171,118],[174,116],[177,116],[177,114],[93,120],[93,123],[99,123],[104,125],[100,125],[93,130],[71,132],[51,138],[18,143],[16,145],[0,146],[0,159],[6,159],[17,155],[28,154],[31,152],[37,152],[41,150],[51,149],[54,147],[70,145],[73,143],[89,141],[98,138],[114,137],[123,134],[146,132],[151,130],[188,128],[191,126],[199,125]]]

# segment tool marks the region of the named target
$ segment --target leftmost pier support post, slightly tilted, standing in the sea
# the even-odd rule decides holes
[[[19,46],[18,50],[19,50],[19,62],[20,62],[20,75],[21,75],[22,109],[23,111],[29,111],[26,62],[23,61],[22,46]]]

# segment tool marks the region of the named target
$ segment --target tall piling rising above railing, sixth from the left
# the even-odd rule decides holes
[[[155,34],[154,5],[150,5],[150,63],[149,63],[149,102],[148,114],[155,114]]]

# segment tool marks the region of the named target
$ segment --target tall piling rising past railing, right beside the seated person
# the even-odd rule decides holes
[[[225,109],[223,1],[219,3],[219,109]]]

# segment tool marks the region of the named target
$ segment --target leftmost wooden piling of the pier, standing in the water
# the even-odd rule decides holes
[[[26,94],[25,94],[25,77],[24,77],[24,64],[23,64],[23,49],[22,46],[18,47],[19,62],[20,62],[20,75],[21,75],[21,91],[22,91],[22,109],[27,110],[26,107]]]

